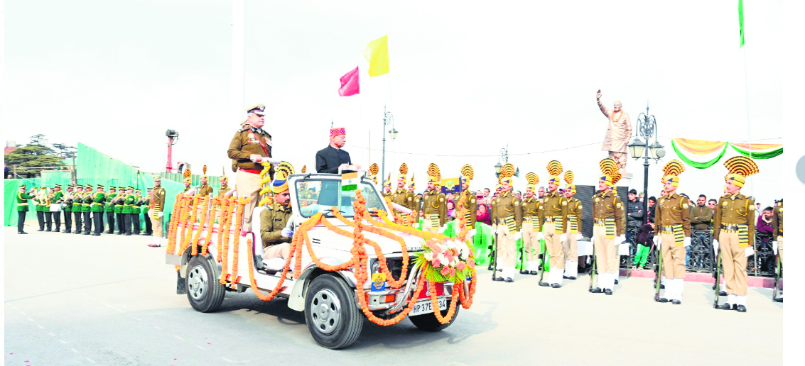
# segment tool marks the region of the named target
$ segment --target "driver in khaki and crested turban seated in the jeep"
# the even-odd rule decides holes
[[[260,239],[265,250],[263,259],[287,258],[291,254],[292,228],[285,228],[293,214],[291,195],[288,192],[287,176],[293,168],[282,163],[277,167],[270,191],[274,193],[274,203],[260,212]]]

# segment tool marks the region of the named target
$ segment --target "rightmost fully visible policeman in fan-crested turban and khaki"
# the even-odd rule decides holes
[[[746,177],[758,173],[751,158],[733,156],[724,162],[727,194],[721,196],[713,217],[713,246],[720,249],[727,301],[721,310],[746,312],[746,258],[752,255],[754,200],[741,195]]]

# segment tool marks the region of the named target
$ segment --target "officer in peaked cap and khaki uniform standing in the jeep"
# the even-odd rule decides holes
[[[254,105],[246,109],[246,122],[229,142],[227,151],[232,159],[232,171],[236,172],[237,195],[249,198],[249,203],[243,208],[242,233],[251,231],[252,212],[260,200],[261,162],[275,161],[271,158],[271,135],[262,129],[266,123],[265,109],[265,105]],[[274,167],[270,167],[268,175],[271,179],[274,178]]]

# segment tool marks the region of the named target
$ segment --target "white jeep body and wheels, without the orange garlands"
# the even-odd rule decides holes
[[[345,228],[349,232],[353,231],[353,228],[338,220],[331,212],[332,207],[336,207],[343,216],[353,220],[355,191],[341,190],[341,175],[290,175],[288,187],[293,211],[290,221],[295,235],[299,235],[297,232],[299,225],[317,212],[323,213],[323,220],[328,220],[329,223]],[[370,212],[372,216],[375,216],[379,210],[390,212],[371,180],[361,177],[358,189],[366,199],[367,212]],[[198,202],[196,201],[197,207],[200,206]],[[177,204],[180,204],[178,199]],[[255,291],[271,291],[278,285],[286,261],[279,260],[278,264],[277,259],[264,261],[262,258],[264,252],[260,239],[260,213],[264,209],[258,207],[254,210],[252,215],[253,232],[247,233],[246,236],[240,236],[238,232],[234,232],[235,225],[232,225],[229,229],[229,241],[232,242],[232,245],[229,245],[228,253],[221,253],[224,254],[221,256],[221,261],[217,259],[217,247],[220,246],[217,244],[217,237],[219,237],[217,234],[221,223],[213,224],[212,228],[209,228],[208,224],[196,223],[196,220],[189,220],[188,224],[185,224],[185,226],[189,226],[189,222],[193,221],[192,229],[188,230],[192,236],[201,239],[212,238],[209,240],[205,255],[202,255],[203,250],[201,249],[204,246],[203,240],[196,241],[197,254],[195,256],[192,255],[194,246],[192,244],[187,245],[184,251],[180,250],[180,245],[175,245],[173,253],[171,253],[171,245],[168,245],[167,264],[179,266],[177,294],[186,293],[188,301],[194,309],[200,312],[215,311],[224,300],[225,290],[243,292],[252,287],[252,280],[257,285]],[[201,211],[201,208],[198,211]],[[179,210],[177,209],[176,212]],[[180,220],[178,217],[180,215],[174,214],[174,216],[171,218],[171,228],[177,224],[175,220]],[[235,218],[232,220],[234,222]],[[364,220],[363,223],[369,225],[367,220]],[[180,231],[182,224],[178,223],[177,226],[178,228],[174,231]],[[201,232],[198,232],[199,230]],[[212,233],[209,232],[210,230]],[[408,253],[422,252],[424,241],[420,237],[405,232],[391,232],[403,238]],[[386,257],[387,267],[394,280],[397,281],[403,271],[403,252],[400,243],[368,231],[363,234],[367,239],[378,243],[382,249],[382,255]],[[172,235],[179,237],[175,232]],[[310,228],[308,237],[313,253],[324,264],[339,265],[353,258],[353,254],[350,253],[350,249],[353,248],[353,238],[333,232],[323,224]],[[252,248],[249,247],[250,242]],[[235,262],[234,253],[236,250],[237,258],[239,258],[237,262]],[[373,288],[371,273],[381,271],[380,262],[372,246],[365,245],[365,251],[369,257],[367,262],[369,281],[365,282],[363,289],[371,314],[379,319],[391,319],[408,305],[412,296],[416,296],[419,300],[408,314],[416,327],[425,331],[440,331],[455,321],[460,307],[458,304],[456,304],[456,313],[452,319],[448,323],[442,324],[433,314],[428,286],[423,286],[419,294],[412,294],[417,289],[419,272],[422,270],[413,264],[413,256],[409,258],[407,281],[403,286],[392,289],[390,286],[376,285]],[[254,253],[251,258],[254,264],[252,270],[250,270],[250,261],[246,260],[251,253]],[[287,298],[288,306],[291,309],[304,311],[308,329],[321,346],[334,349],[348,347],[360,335],[365,318],[355,289],[357,283],[354,275],[355,267],[327,271],[319,268],[312,261],[307,246],[303,246],[301,253],[301,273],[288,272],[276,295]],[[295,258],[290,263],[290,269],[292,270],[294,266]],[[227,268],[229,270],[225,276],[226,284],[222,284],[219,282],[219,278]],[[236,268],[237,278],[232,278]],[[390,282],[390,279],[388,281]],[[435,285],[440,312],[444,317],[447,315],[448,306],[452,301],[453,284],[445,282]],[[465,282],[460,286],[464,286],[464,289],[460,290],[466,290],[467,284]]]

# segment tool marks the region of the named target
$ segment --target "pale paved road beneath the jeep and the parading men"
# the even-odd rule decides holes
[[[28,228],[31,232],[32,228]],[[163,249],[144,236],[5,231],[6,364],[782,364],[782,304],[749,290],[749,311],[712,309],[710,286],[687,283],[683,305],[653,302],[651,281],[621,279],[613,296],[588,278],[561,289],[537,278],[491,282],[481,270],[475,303],[445,331],[410,321],[365,323],[352,347],[319,347],[286,300],[227,293],[201,314],[175,294]],[[762,339],[762,341],[758,341]],[[760,343],[758,343],[760,342]],[[757,346],[757,347],[756,347]],[[762,350],[762,351],[761,351]],[[669,355],[655,358],[656,355]],[[25,362],[25,361],[29,362]]]

